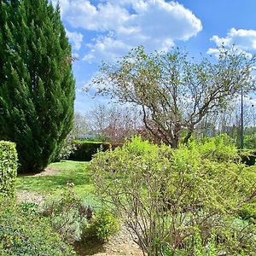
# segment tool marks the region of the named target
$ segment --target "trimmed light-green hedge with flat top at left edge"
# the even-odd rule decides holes
[[[15,143],[0,141],[0,197],[15,195],[17,152]]]

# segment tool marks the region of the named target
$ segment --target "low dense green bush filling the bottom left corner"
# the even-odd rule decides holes
[[[35,205],[25,203],[20,207],[14,202],[0,201],[0,254],[74,255],[72,247],[61,240],[36,209]]]

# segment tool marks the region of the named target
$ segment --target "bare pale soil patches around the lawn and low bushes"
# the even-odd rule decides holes
[[[53,168],[46,168],[44,172],[33,174],[31,176],[45,176],[53,175],[59,170]],[[29,201],[37,203],[42,206],[45,200],[45,195],[38,192],[32,192],[27,190],[17,190],[17,201]],[[95,256],[143,256],[142,250],[138,247],[137,243],[133,241],[129,231],[125,228],[125,225],[121,227],[119,233],[111,237],[107,243],[100,243],[96,240],[85,241],[83,245],[75,245],[75,249],[80,256],[95,255]]]

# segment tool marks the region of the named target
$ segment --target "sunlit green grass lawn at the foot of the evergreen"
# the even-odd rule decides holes
[[[94,201],[94,196],[87,166],[88,162],[70,160],[52,163],[48,167],[59,172],[42,176],[20,175],[17,177],[16,189],[39,192],[44,195],[58,195],[69,182],[74,183],[75,192],[90,203]]]

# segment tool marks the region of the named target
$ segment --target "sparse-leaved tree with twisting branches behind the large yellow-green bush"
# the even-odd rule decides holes
[[[186,143],[207,113],[224,109],[241,88],[253,90],[254,62],[236,49],[219,49],[217,61],[195,62],[179,49],[146,54],[138,47],[118,63],[104,63],[92,85],[119,102],[136,103],[147,129],[177,148],[182,132]]]

